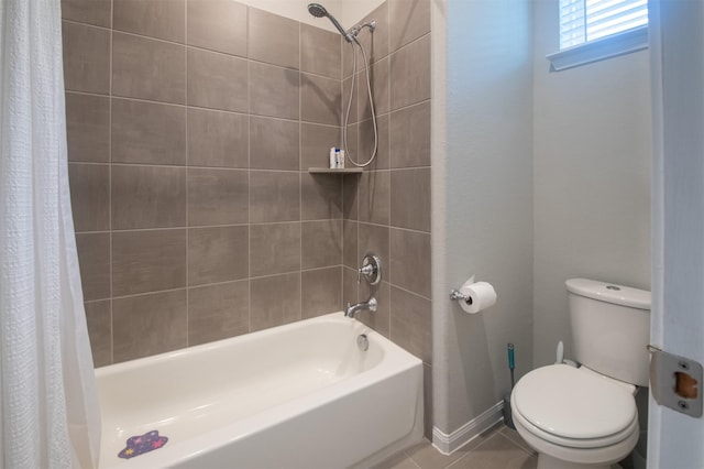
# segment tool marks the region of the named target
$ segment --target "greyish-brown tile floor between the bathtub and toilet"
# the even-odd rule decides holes
[[[428,440],[383,461],[376,469],[535,469],[538,455],[504,424],[474,438],[450,456]]]

